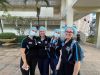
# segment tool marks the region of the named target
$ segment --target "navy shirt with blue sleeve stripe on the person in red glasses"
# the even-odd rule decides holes
[[[80,52],[81,47],[79,46],[77,42],[75,42],[75,44],[73,44],[71,48],[72,42],[73,42],[73,39],[65,43],[64,46],[62,47],[62,61],[63,62],[75,62],[75,61],[81,60],[81,52]]]

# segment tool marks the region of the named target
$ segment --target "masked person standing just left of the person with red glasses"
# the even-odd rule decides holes
[[[51,75],[56,75],[56,65],[60,56],[61,49],[61,39],[60,39],[60,30],[54,30],[54,34],[50,41],[50,67],[52,70]]]

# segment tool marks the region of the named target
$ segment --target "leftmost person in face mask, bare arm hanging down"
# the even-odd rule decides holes
[[[36,32],[36,27],[30,28],[29,35],[23,39],[21,44],[20,69],[22,75],[35,75],[35,69],[38,61]]]

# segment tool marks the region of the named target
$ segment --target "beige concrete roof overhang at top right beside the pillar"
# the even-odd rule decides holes
[[[92,12],[100,12],[100,0],[77,0],[73,4],[74,20],[78,20]]]

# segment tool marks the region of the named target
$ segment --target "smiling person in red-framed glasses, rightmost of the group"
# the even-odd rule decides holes
[[[74,27],[65,29],[65,41],[60,51],[59,62],[56,66],[57,75],[79,75],[81,47],[73,36],[77,31]]]

